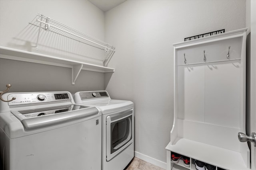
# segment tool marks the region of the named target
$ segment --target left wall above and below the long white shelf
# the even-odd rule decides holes
[[[62,39],[44,30],[36,51],[38,27],[28,23],[38,13],[104,41],[104,12],[87,0],[0,0],[0,46],[76,58],[69,49],[58,50]],[[104,73],[82,70],[75,85],[71,75],[71,68],[0,59],[0,91],[6,84],[10,92],[104,90]]]

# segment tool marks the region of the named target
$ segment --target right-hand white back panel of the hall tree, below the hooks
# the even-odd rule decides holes
[[[240,63],[205,66],[205,122],[240,127]]]

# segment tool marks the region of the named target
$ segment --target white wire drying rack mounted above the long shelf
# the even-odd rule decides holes
[[[46,33],[43,34],[42,31],[46,31],[58,36],[63,36],[70,41],[76,41],[77,46],[82,48],[82,56],[100,60],[104,66],[108,64],[115,53],[114,46],[90,35],[86,35],[56,20],[52,20],[42,14],[37,14],[36,18],[29,24],[39,28],[35,46],[36,49],[39,48],[40,39],[42,39],[41,37],[46,35]],[[82,45],[80,43],[82,43]]]

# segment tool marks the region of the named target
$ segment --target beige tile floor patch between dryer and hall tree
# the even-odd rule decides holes
[[[134,157],[124,170],[164,170],[144,160]]]

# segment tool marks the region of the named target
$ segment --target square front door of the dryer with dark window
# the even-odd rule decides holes
[[[106,153],[111,160],[132,142],[132,109],[106,117]]]

